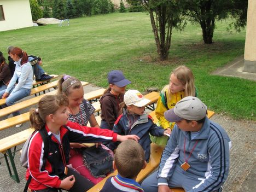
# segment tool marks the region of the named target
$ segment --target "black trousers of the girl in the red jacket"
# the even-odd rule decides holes
[[[75,177],[75,183],[73,187],[68,190],[69,192],[85,192],[94,186],[88,179],[74,171],[72,168],[68,168],[68,174],[63,174],[60,178],[64,179],[72,174]],[[58,192],[58,190],[59,189],[56,188],[46,188],[42,190],[33,190],[32,192]]]

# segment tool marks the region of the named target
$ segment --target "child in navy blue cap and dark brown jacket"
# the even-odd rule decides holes
[[[123,72],[113,70],[108,73],[108,83],[109,88],[100,99],[101,128],[112,130],[120,115],[119,104],[124,101],[125,87],[131,82],[125,79]]]

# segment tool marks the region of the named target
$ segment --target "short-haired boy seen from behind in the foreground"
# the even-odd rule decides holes
[[[118,175],[108,178],[100,192],[143,192],[136,178],[146,166],[142,147],[133,140],[122,142],[115,151],[113,161],[113,167],[118,170]]]

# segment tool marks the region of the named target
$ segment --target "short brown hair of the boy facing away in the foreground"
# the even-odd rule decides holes
[[[119,144],[115,151],[114,161],[120,176],[134,178],[142,170],[144,165],[144,150],[134,140],[126,140]]]

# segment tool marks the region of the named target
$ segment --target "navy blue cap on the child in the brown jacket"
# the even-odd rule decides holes
[[[117,85],[119,88],[123,88],[131,82],[130,80],[125,79],[123,72],[119,70],[113,70],[108,73],[108,83]]]

